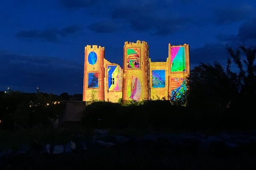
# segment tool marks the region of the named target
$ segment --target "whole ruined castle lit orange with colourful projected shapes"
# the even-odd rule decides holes
[[[125,42],[123,69],[105,59],[105,48],[84,48],[83,101],[183,100],[189,76],[189,45],[170,45],[166,62],[151,62],[148,43]]]

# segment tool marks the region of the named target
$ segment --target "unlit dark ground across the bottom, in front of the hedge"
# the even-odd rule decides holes
[[[29,143],[26,153],[14,151],[9,156],[2,156],[0,169],[256,169],[255,131],[218,133],[215,136],[202,133],[127,136],[130,140],[126,142],[118,142],[114,136],[102,138],[113,144],[110,147],[93,142],[86,135],[91,134],[70,136],[76,143],[76,150],[72,153],[41,154],[41,144]],[[82,150],[81,142],[88,150]]]

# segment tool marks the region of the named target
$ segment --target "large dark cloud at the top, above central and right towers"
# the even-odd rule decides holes
[[[138,32],[150,32],[160,36],[167,36],[188,28],[193,23],[193,18],[179,13],[168,11],[169,4],[150,1],[147,4],[133,3],[119,6],[113,9],[113,20],[122,20],[132,30]],[[168,11],[168,15],[164,15]]]

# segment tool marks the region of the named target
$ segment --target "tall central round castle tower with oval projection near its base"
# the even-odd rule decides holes
[[[122,101],[150,98],[148,44],[125,42],[123,53]]]

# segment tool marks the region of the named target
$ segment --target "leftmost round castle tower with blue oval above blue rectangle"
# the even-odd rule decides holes
[[[105,48],[97,45],[84,47],[83,101],[104,100]]]

